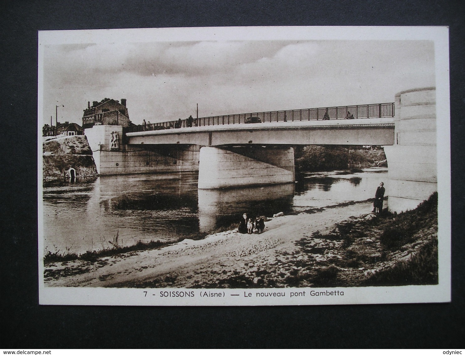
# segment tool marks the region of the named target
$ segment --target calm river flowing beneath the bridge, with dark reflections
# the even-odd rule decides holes
[[[82,254],[137,241],[177,241],[272,216],[374,196],[387,169],[305,173],[296,184],[198,190],[197,173],[100,176],[43,187],[44,252]],[[387,190],[387,188],[386,188]],[[368,211],[367,211],[368,212]]]

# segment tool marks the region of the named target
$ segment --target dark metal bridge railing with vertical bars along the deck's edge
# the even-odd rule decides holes
[[[288,122],[288,121],[319,121],[328,113],[329,120],[350,118],[376,118],[394,117],[394,103],[380,103],[369,105],[338,106],[306,108],[299,110],[252,112],[248,114],[226,114],[220,116],[194,118],[191,123],[188,120],[157,122],[146,125],[126,127],[125,132],[153,131],[159,129],[181,127],[203,127],[217,125],[233,125],[245,123],[249,117],[259,117],[261,122]],[[328,119],[326,117],[326,119]]]

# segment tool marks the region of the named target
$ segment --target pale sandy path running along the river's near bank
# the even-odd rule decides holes
[[[221,232],[203,240],[184,240],[157,250],[104,257],[100,261],[55,263],[48,270],[72,270],[77,275],[46,279],[46,286],[87,287],[215,287],[219,279],[245,272],[266,272],[279,265],[279,255],[296,250],[295,241],[314,231],[332,228],[350,216],[368,214],[372,204],[357,203],[273,218],[262,234]],[[283,254],[284,253],[284,254]],[[63,275],[63,274],[62,274]],[[216,282],[216,284],[215,284]]]

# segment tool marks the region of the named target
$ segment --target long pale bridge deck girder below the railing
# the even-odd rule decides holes
[[[392,145],[394,119],[354,119],[242,123],[163,129],[126,134],[128,144],[260,145]]]

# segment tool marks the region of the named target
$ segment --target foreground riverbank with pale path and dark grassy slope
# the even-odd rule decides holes
[[[437,219],[431,208],[417,215],[376,217],[371,202],[333,206],[266,222],[262,234],[225,231],[154,250],[133,251],[96,261],[64,261],[45,267],[46,286],[133,288],[224,288],[359,286],[373,275],[432,250]],[[383,231],[419,220],[396,242]],[[427,222],[429,221],[429,222]],[[405,228],[404,228],[405,229]],[[408,228],[407,228],[408,229]],[[406,230],[406,229],[405,229]],[[388,232],[392,233],[392,232]],[[394,233],[395,234],[395,233]],[[430,261],[431,262],[431,261]],[[434,277],[434,265],[431,280]],[[429,275],[429,274],[428,274]],[[391,281],[389,281],[391,280]],[[392,282],[392,278],[388,281]],[[396,282],[396,281],[394,281]],[[416,282],[416,281],[413,281]]]

